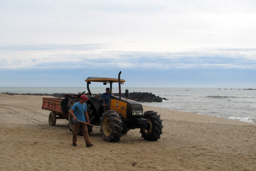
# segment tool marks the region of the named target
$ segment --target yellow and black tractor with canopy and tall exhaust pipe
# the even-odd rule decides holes
[[[88,77],[87,82],[87,112],[92,125],[101,126],[103,140],[109,142],[120,141],[120,137],[126,134],[130,129],[140,128],[140,133],[145,140],[157,141],[162,134],[162,120],[157,112],[143,111],[142,104],[128,98],[121,97],[121,84],[125,80],[120,79],[121,71],[118,78],[106,77]],[[119,96],[111,96],[108,100],[105,112],[101,107],[101,98],[93,96],[89,85],[92,82],[102,82],[108,85],[112,90],[112,84],[118,83]],[[128,90],[125,90],[125,96],[128,97]],[[69,114],[70,115],[70,114]],[[72,118],[72,116],[69,116]],[[71,119],[69,118],[69,119]],[[72,124],[72,123],[71,123]],[[72,130],[72,125],[70,125]],[[89,133],[92,127],[88,126]]]

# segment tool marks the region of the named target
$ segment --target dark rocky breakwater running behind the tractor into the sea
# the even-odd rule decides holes
[[[66,94],[72,93],[2,93],[8,95],[33,95],[33,96],[53,96],[53,97],[60,97],[65,98]],[[73,96],[80,97],[80,94],[72,94]],[[101,97],[101,94],[93,94]],[[115,96],[119,96],[119,93],[113,93]],[[128,98],[138,102],[162,102],[163,100],[167,100],[166,98],[162,98],[159,96],[155,96],[155,94],[148,93],[148,92],[132,92],[128,94],[128,97],[125,97],[125,93],[121,93],[121,97]]]

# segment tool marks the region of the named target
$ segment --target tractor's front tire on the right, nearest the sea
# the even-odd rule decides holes
[[[160,115],[153,111],[147,111],[143,114],[143,118],[148,121],[148,128],[140,128],[141,137],[148,141],[157,141],[162,132],[162,121]]]

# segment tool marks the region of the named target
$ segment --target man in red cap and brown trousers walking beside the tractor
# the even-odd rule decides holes
[[[87,105],[86,105],[86,101],[88,101],[89,98],[87,98],[86,95],[82,95],[80,97],[80,101],[76,102],[72,108],[69,110],[69,113],[73,116],[72,121],[74,122],[74,129],[73,129],[73,146],[77,146],[76,145],[76,141],[77,141],[77,135],[78,135],[78,131],[79,131],[79,127],[81,125],[81,129],[82,129],[82,133],[83,133],[83,137],[85,140],[85,144],[86,147],[92,147],[93,144],[91,143],[90,139],[89,139],[89,133],[88,133],[88,129],[87,129],[87,124],[83,124],[80,123],[78,120],[85,122],[87,121],[88,124],[90,124],[90,120],[89,120],[89,116],[87,113]]]

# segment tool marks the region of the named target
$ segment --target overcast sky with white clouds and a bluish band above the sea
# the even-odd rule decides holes
[[[256,88],[255,0],[0,0],[0,86]]]

